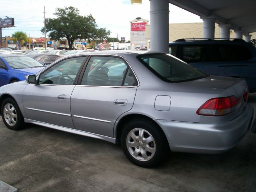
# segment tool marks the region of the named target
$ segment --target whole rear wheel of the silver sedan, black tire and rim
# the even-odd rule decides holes
[[[140,137],[139,133],[143,133]],[[132,136],[136,136],[134,140]],[[152,140],[152,138],[153,140]],[[152,140],[152,142],[148,141]],[[170,152],[168,142],[162,130],[148,120],[128,122],[121,133],[121,146],[126,157],[135,165],[150,168],[160,165]],[[130,143],[130,146],[127,145]],[[134,152],[134,154],[132,154]],[[136,157],[135,157],[136,156]]]

